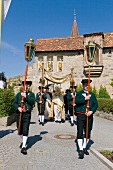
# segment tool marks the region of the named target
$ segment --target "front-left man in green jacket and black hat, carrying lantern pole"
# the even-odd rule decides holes
[[[22,84],[24,85],[24,82],[22,82]],[[20,128],[19,135],[22,139],[20,148],[21,148],[21,153],[23,154],[27,154],[26,143],[29,134],[31,111],[35,104],[35,95],[33,92],[30,91],[31,84],[32,84],[31,81],[26,81],[26,90],[24,92],[17,93],[13,102],[13,106],[17,112],[17,128]],[[24,109],[22,107],[22,98],[24,98],[23,101]],[[19,126],[20,113],[22,113],[22,118],[21,118],[21,124]]]

